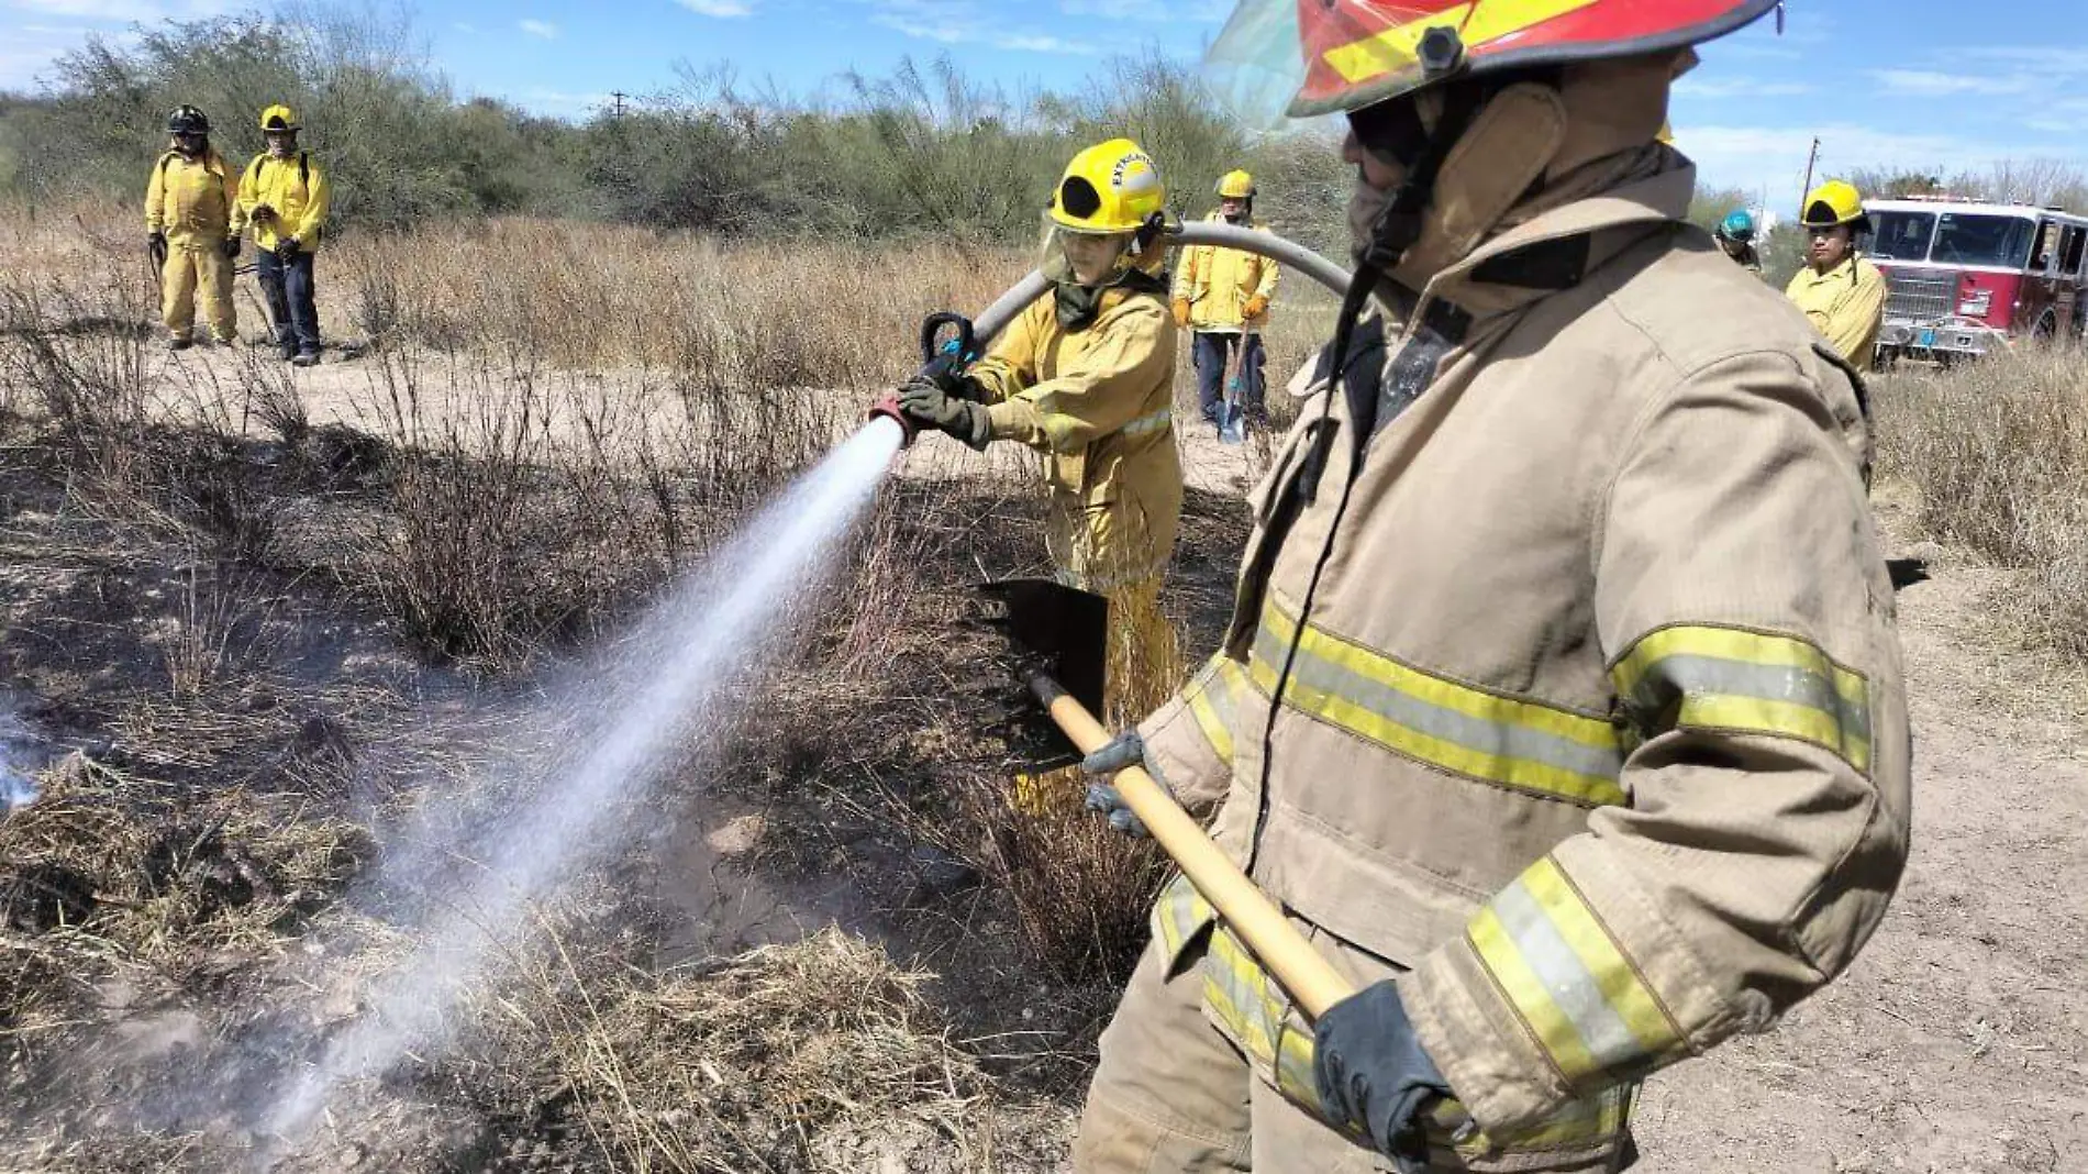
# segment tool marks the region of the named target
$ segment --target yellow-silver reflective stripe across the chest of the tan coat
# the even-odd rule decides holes
[[[1274,593],[1261,610],[1249,675],[1282,702],[1397,754],[1547,798],[1622,804],[1624,748],[1604,719],[1474,689],[1297,620]]]

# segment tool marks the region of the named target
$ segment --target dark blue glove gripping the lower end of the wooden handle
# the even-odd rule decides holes
[[[1395,982],[1328,1007],[1313,1028],[1313,1082],[1330,1122],[1363,1130],[1401,1170],[1428,1166],[1422,1109],[1451,1090],[1414,1036]]]

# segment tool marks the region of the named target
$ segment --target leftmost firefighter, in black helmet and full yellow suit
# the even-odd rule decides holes
[[[196,297],[221,347],[238,341],[232,259],[240,255],[238,173],[211,146],[211,119],[196,107],[167,115],[173,144],[152,163],[144,190],[146,249],[159,265],[159,313],[167,349],[190,347]]]

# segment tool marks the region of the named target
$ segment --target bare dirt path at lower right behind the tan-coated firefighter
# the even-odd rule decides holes
[[[1639,1170],[2088,1170],[2084,681],[1996,648],[1994,572],[1931,574],[1900,593],[1915,846],[1892,913],[1781,1030],[1654,1080]]]

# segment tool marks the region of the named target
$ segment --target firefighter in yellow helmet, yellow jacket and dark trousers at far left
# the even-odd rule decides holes
[[[261,111],[267,150],[240,175],[240,221],[253,221],[261,251],[257,276],[276,322],[276,349],[309,368],[319,361],[319,309],[313,297],[313,261],[332,190],[309,150],[296,148],[290,107]]]

